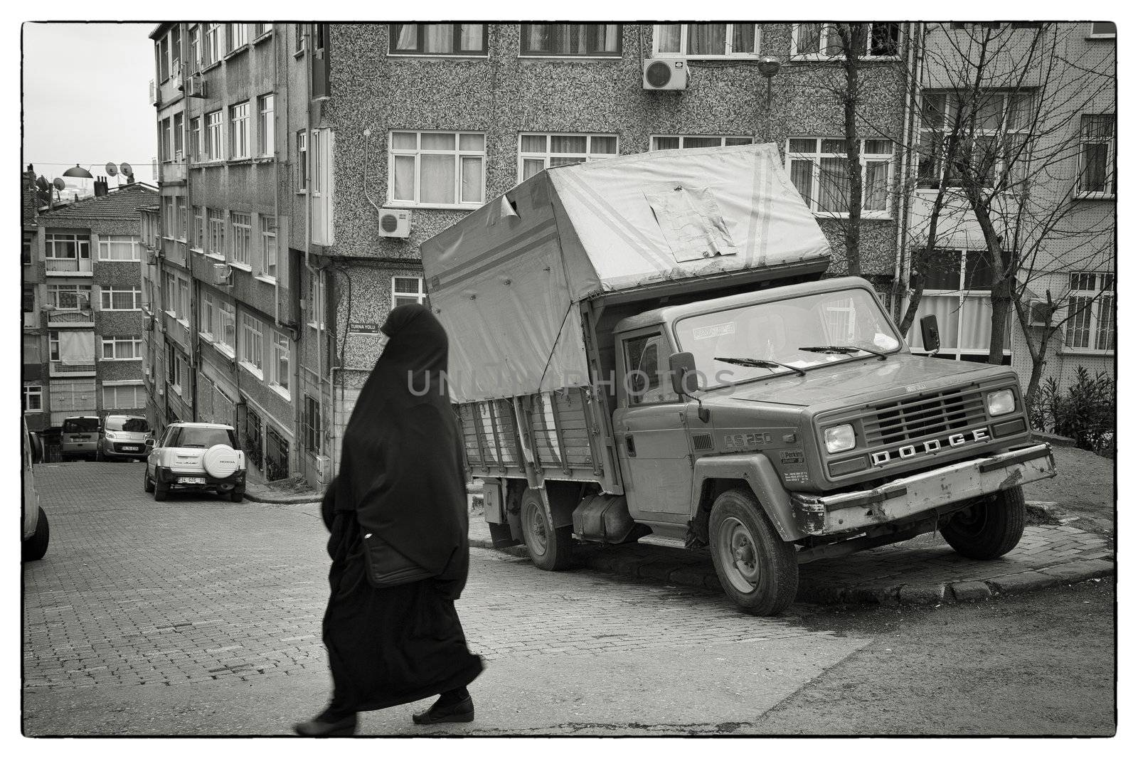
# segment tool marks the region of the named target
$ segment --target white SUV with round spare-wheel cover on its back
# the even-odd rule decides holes
[[[228,424],[174,422],[146,460],[142,486],[165,501],[172,490],[215,490],[233,503],[245,497],[245,453]]]

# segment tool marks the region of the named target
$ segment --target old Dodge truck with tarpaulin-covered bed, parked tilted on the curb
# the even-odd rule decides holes
[[[421,250],[494,544],[542,569],[653,535],[775,614],[817,559],[1003,555],[1054,477],[1011,368],[913,355],[869,282],[822,279],[775,146],[551,167]]]

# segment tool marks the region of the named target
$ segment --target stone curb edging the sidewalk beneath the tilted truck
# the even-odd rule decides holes
[[[512,556],[528,559],[525,545],[495,548],[492,541],[471,538],[470,546],[488,548]],[[661,562],[659,559],[630,555],[613,555],[603,548],[577,558],[575,563],[609,575],[628,578],[654,579],[658,581],[721,591],[715,570],[701,566]],[[865,604],[921,607],[964,601],[983,601],[1004,595],[1017,595],[1057,585],[1083,583],[1114,575],[1114,561],[1106,559],[1081,559],[1044,569],[1016,572],[989,580],[956,580],[938,585],[893,585],[872,587],[860,585],[834,585],[802,578],[799,583],[797,602],[822,605]]]

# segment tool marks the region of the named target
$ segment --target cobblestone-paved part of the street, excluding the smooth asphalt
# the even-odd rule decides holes
[[[134,463],[38,468],[51,545],[24,567],[25,688],[251,684],[327,671],[318,504],[200,495],[158,503],[141,480]],[[471,559],[460,614],[471,649],[492,661],[833,637],[798,626],[793,613],[741,614],[716,591],[543,572],[479,548]]]

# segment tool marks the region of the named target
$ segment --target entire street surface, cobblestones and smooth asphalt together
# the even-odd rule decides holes
[[[156,503],[141,464],[36,478],[52,539],[24,567],[26,735],[281,735],[323,706],[316,504]],[[1108,734],[1112,602],[1107,583],[757,619],[716,592],[476,548],[459,611],[488,665],[478,719],[421,728],[420,702],[362,733]]]

